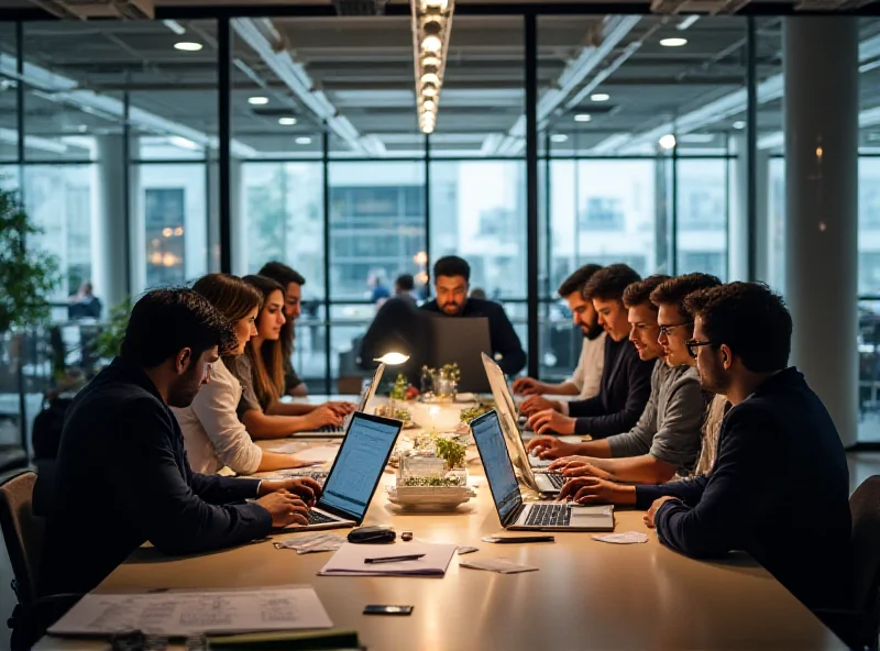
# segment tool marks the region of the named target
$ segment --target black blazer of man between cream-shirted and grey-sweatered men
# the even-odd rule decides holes
[[[604,439],[631,430],[651,397],[656,363],[656,360],[642,362],[629,340],[614,341],[606,336],[598,394],[569,402],[569,416],[578,419],[574,433]]]

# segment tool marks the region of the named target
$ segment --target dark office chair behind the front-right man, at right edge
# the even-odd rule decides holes
[[[880,475],[868,477],[849,498],[853,514],[853,607],[816,610],[850,648],[878,651],[880,632]]]

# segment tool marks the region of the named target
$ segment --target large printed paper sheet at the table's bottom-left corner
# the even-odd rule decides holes
[[[82,636],[138,630],[178,637],[332,626],[315,588],[294,585],[258,589],[90,593],[48,632]]]

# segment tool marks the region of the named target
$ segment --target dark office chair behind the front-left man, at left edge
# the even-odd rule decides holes
[[[37,569],[43,553],[45,521],[33,512],[36,474],[24,471],[0,483],[0,531],[12,564],[12,591],[19,603],[7,625],[12,629],[11,648],[30,649],[46,628],[82,595],[37,597]]]

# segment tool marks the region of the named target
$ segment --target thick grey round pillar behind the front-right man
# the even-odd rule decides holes
[[[858,19],[783,20],[792,363],[850,445],[858,420]]]

